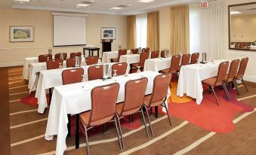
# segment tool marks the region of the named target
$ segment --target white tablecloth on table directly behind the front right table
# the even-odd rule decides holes
[[[168,58],[155,58],[146,59],[144,64],[144,71],[161,71],[166,68],[170,68],[171,57]]]

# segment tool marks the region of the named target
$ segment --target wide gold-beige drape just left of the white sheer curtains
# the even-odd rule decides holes
[[[190,49],[189,6],[171,7],[171,55],[189,53]]]

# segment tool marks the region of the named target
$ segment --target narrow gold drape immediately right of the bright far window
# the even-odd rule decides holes
[[[150,51],[159,50],[159,12],[147,14],[147,47]]]

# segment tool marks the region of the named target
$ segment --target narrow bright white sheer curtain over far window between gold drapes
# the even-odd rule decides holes
[[[136,16],[136,46],[147,47],[147,14]]]

